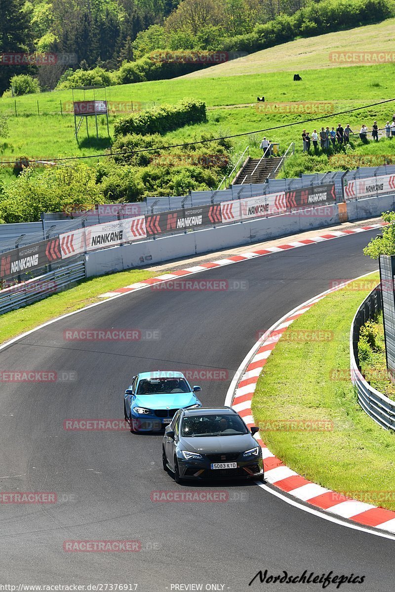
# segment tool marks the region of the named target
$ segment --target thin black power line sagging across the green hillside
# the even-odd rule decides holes
[[[377,107],[377,105],[383,105],[385,103],[390,103],[395,101],[393,99],[386,99],[385,101],[378,101],[377,103],[372,103],[370,105],[363,105],[362,107],[354,107],[353,109],[347,109],[345,111],[338,111],[337,113],[332,113],[330,117],[336,117],[336,115],[345,115],[346,113],[352,113],[354,111],[361,111],[362,109],[369,109],[370,107]],[[242,136],[251,136],[252,134],[262,134],[266,131],[273,131],[273,130],[281,130],[284,127],[292,127],[292,126],[301,126],[305,123],[311,123],[311,121],[320,121],[322,119],[327,119],[328,115],[321,115],[320,117],[311,117],[310,119],[305,119],[303,121],[293,121],[291,123],[285,123],[281,126],[273,126],[273,127],[266,127],[264,130],[253,130],[253,131],[245,131],[240,134],[232,134],[231,136],[221,136],[219,138],[211,138],[210,140],[195,140],[193,142],[184,142],[182,144],[170,144],[169,146],[161,146],[161,147],[154,147],[154,148],[140,148],[139,150],[128,150],[128,151],[121,151],[121,152],[111,152],[105,154],[97,154],[92,156],[65,156],[63,158],[48,158],[46,160],[50,160],[51,162],[63,162],[63,160],[85,160],[89,158],[101,158],[101,157],[112,157],[112,156],[126,156],[131,154],[137,154],[140,152],[152,152],[153,150],[168,150],[170,148],[181,148],[184,146],[195,146],[196,144],[207,144],[209,142],[216,142],[220,140],[229,140],[232,138],[239,138]],[[384,129],[384,128],[383,128]],[[30,160],[29,162],[43,162],[43,160]],[[15,160],[9,160],[2,162],[2,165],[14,165]]]

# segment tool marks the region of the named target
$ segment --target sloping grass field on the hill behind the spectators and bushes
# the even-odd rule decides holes
[[[358,28],[358,30],[330,33],[309,40],[301,39],[264,52],[257,52],[249,56],[249,59],[255,60],[253,63],[256,69],[253,70],[253,73],[249,73],[250,70],[243,66],[243,59],[235,60],[223,65],[223,67],[229,67],[229,72],[235,75],[219,75],[218,68],[222,66],[213,66],[200,73],[204,74],[203,78],[188,76],[167,81],[112,86],[107,89],[107,99],[113,103],[114,107],[121,103],[121,106],[126,110],[131,109],[132,101],[134,108],[139,105],[146,108],[151,107],[153,102],[155,104],[175,103],[186,97],[202,99],[208,107],[207,123],[188,126],[166,134],[169,143],[191,141],[205,132],[213,133],[214,136],[219,137],[285,125],[284,128],[267,132],[258,131],[256,134],[233,140],[235,159],[247,145],[251,147],[252,156],[260,156],[261,151],[258,147],[262,136],[268,136],[270,140],[280,142],[281,152],[284,152],[291,141],[296,141],[296,149],[299,153],[301,152],[300,134],[304,127],[312,131],[314,127],[318,128],[321,124],[336,127],[341,121],[343,126],[350,123],[352,128],[359,131],[364,122],[370,127],[373,120],[377,119],[379,126],[383,127],[385,122],[391,118],[395,112],[395,101],[349,115],[338,116],[335,113],[395,98],[392,84],[395,73],[393,63],[371,66],[322,67],[322,69],[314,69],[312,66],[314,63],[316,65],[322,63],[320,62],[322,55],[320,52],[323,52],[323,47],[325,54],[329,50],[341,50],[345,46],[346,40],[349,40],[349,44],[354,46],[355,39],[365,39],[365,49],[372,49],[374,40],[377,41],[377,36],[380,34],[380,51],[384,50],[384,47],[387,47],[386,31],[390,31],[394,23],[395,19],[391,19],[378,25]],[[310,60],[309,63],[302,60],[297,67],[297,71],[303,78],[301,82],[293,81],[295,68],[287,57],[289,52],[292,54],[294,52],[294,49],[288,47],[293,47],[292,44],[299,44],[300,55],[304,53],[306,59],[308,57]],[[266,52],[277,52],[283,58],[277,59],[275,62],[272,60],[272,65],[268,66]],[[303,64],[306,69],[301,69]],[[275,75],[266,74],[264,72],[266,66],[274,68]],[[284,67],[287,67],[289,71],[284,71]],[[243,75],[240,72],[243,72]],[[265,96],[266,102],[259,104],[260,110],[258,110],[255,102],[256,97],[262,95]],[[75,98],[82,99],[82,91],[76,92]],[[93,98],[93,92],[87,91],[86,98]],[[98,90],[96,98],[101,98]],[[37,113],[37,101],[40,115]],[[94,118],[89,118],[90,137],[86,137],[84,123],[80,130],[81,141],[78,145],[74,136],[73,115],[66,112],[63,116],[60,115],[60,104],[63,105],[64,111],[70,111],[71,101],[72,92],[69,90],[26,95],[15,100],[1,98],[0,113],[9,115],[10,134],[6,140],[0,141],[0,161],[2,163],[13,162],[21,156],[50,160],[62,156],[95,156],[105,152],[111,146],[114,121],[122,115],[113,114],[110,116],[110,138],[107,137],[105,118],[99,118],[99,140],[95,138]],[[292,105],[283,105],[300,101],[309,103],[306,114],[290,111],[293,108]],[[316,102],[325,102],[325,105],[319,107]],[[15,103],[18,117],[15,117]],[[275,104],[275,106],[271,104]],[[282,105],[284,112],[275,111],[278,104]],[[320,108],[325,111],[319,111]],[[311,110],[312,114],[310,114]],[[327,112],[325,120],[308,124],[300,123],[323,112]],[[297,125],[291,127],[289,126],[291,122],[295,122]],[[364,153],[371,153],[371,145],[362,147],[358,139],[356,146],[358,152],[362,149]],[[374,150],[377,149],[374,147]],[[390,144],[386,147],[380,144],[378,150],[382,153],[387,150],[393,153],[393,147]],[[97,160],[91,159],[87,162],[95,163]],[[330,168],[326,167],[326,163],[323,163],[323,166],[326,170]],[[4,167],[0,170],[0,178],[5,184],[12,182],[13,179]]]

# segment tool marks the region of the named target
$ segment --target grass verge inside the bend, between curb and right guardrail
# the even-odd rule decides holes
[[[378,274],[370,276],[368,284],[376,279]],[[259,377],[252,413],[268,448],[291,469],[330,490],[395,510],[395,435],[365,414],[349,380],[349,330],[370,290],[366,279],[352,282],[294,321]],[[313,340],[317,330],[332,332],[331,339]],[[296,420],[333,422],[333,429],[287,430],[287,422]],[[278,424],[268,430],[269,422],[282,423],[284,430]]]

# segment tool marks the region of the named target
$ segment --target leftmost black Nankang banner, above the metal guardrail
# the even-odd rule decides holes
[[[62,258],[59,238],[18,247],[0,255],[0,279],[10,279]]]

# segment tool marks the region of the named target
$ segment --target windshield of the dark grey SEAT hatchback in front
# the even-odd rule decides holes
[[[248,434],[242,419],[236,414],[209,414],[184,417],[181,435],[184,437],[241,436]]]

